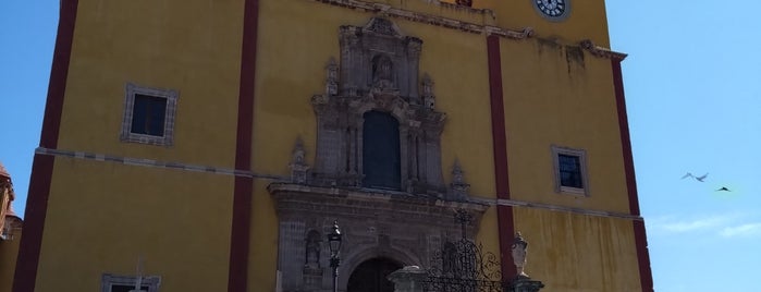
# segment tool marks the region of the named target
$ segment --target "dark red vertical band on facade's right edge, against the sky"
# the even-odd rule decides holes
[[[635,179],[634,155],[631,153],[631,138],[629,136],[629,122],[626,114],[626,99],[624,97],[624,78],[621,73],[621,60],[612,60],[613,85],[615,86],[616,108],[618,110],[618,129],[621,145],[624,155],[624,171],[626,173],[626,191],[629,195],[629,211],[639,216],[639,197],[637,195],[637,180]],[[650,268],[650,253],[648,252],[648,239],[645,232],[645,222],[635,220],[634,235],[637,248],[637,261],[639,264],[639,280],[642,291],[653,291],[652,270]]]

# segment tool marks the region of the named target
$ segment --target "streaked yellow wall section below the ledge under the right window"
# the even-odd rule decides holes
[[[631,220],[515,208],[542,292],[642,291]]]

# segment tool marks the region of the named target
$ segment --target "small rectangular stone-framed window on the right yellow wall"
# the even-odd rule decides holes
[[[581,149],[552,146],[555,192],[589,195],[586,156]]]

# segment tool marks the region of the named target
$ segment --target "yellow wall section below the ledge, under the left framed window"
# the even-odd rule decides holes
[[[228,287],[233,178],[56,158],[36,291],[99,291],[105,272],[161,291]]]

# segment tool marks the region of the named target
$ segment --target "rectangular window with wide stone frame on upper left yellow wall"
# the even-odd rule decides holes
[[[177,92],[126,85],[121,141],[171,146]]]

